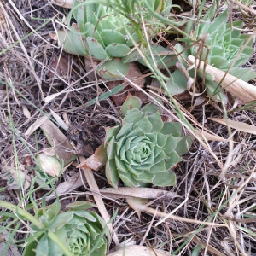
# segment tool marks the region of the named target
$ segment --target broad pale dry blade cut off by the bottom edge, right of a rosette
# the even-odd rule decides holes
[[[130,246],[119,249],[114,253],[108,254],[108,256],[167,256],[168,253],[164,253],[160,250],[154,250],[149,247],[143,246]]]

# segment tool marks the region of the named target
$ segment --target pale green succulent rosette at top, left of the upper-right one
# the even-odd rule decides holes
[[[117,70],[127,74],[129,64],[113,58],[124,57],[133,46],[126,30],[138,42],[137,33],[129,25],[130,21],[123,15],[115,14],[111,7],[102,3],[84,3],[86,1],[73,3],[71,13],[77,24],[73,24],[68,32],[58,31],[64,50],[76,55],[91,55],[97,61],[108,60],[97,70],[104,79],[119,77]],[[119,10],[122,8],[124,6],[120,5]]]

